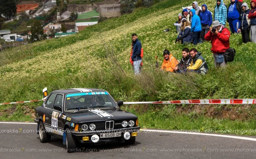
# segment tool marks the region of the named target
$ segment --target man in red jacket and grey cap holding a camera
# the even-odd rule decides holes
[[[218,20],[213,21],[212,27],[204,36],[206,41],[211,41],[215,67],[223,67],[227,64],[224,60],[224,52],[229,48],[229,37],[229,30]]]

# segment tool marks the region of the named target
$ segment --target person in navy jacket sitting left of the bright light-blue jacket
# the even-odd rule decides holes
[[[175,43],[191,43],[192,42],[192,33],[190,31],[191,26],[187,22],[186,18],[182,19],[181,32],[176,39]]]

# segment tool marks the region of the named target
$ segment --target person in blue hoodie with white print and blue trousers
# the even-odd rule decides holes
[[[229,27],[233,34],[237,33],[237,30],[240,28],[241,7],[242,2],[230,0],[227,21],[229,22]]]

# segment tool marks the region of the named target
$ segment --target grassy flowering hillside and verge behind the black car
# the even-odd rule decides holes
[[[198,1],[199,4],[203,2]],[[224,2],[229,4],[228,0]],[[249,0],[245,2],[249,4]],[[225,69],[214,68],[210,42],[195,46],[202,52],[210,68],[206,75],[168,74],[155,68],[154,57],[157,55],[161,64],[165,48],[178,59],[181,58],[181,50],[185,46],[175,44],[177,34],[173,23],[181,7],[191,3],[166,0],[150,8],[137,8],[132,14],[87,27],[75,35],[4,51],[0,54],[0,89],[4,90],[0,91],[0,103],[41,99],[44,87],[49,92],[83,87],[106,89],[116,100],[124,101],[255,98],[256,44],[242,44],[241,34],[230,37],[231,48],[235,48],[237,54]],[[215,3],[207,5],[213,11]],[[163,32],[166,28],[170,28],[170,33]],[[138,34],[144,49],[143,72],[138,76],[134,75],[129,63],[132,33]],[[28,105],[35,108],[41,104]],[[6,105],[0,109],[20,105],[24,106]],[[234,130],[255,129],[256,126],[254,112],[248,120],[231,121],[196,113],[178,114],[173,107],[175,105],[160,105],[155,109],[153,105],[138,105],[124,106],[124,109],[138,115],[141,126],[150,128]],[[16,114],[23,117],[3,115],[0,120],[24,120],[23,109]],[[239,113],[243,113],[243,110]]]

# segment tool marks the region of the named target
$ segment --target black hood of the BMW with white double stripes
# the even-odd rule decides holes
[[[121,109],[92,109],[92,110],[86,110],[86,111],[76,111],[72,113],[66,113],[66,116],[70,117],[71,122],[73,123],[138,118],[134,114],[128,111],[123,111]]]

